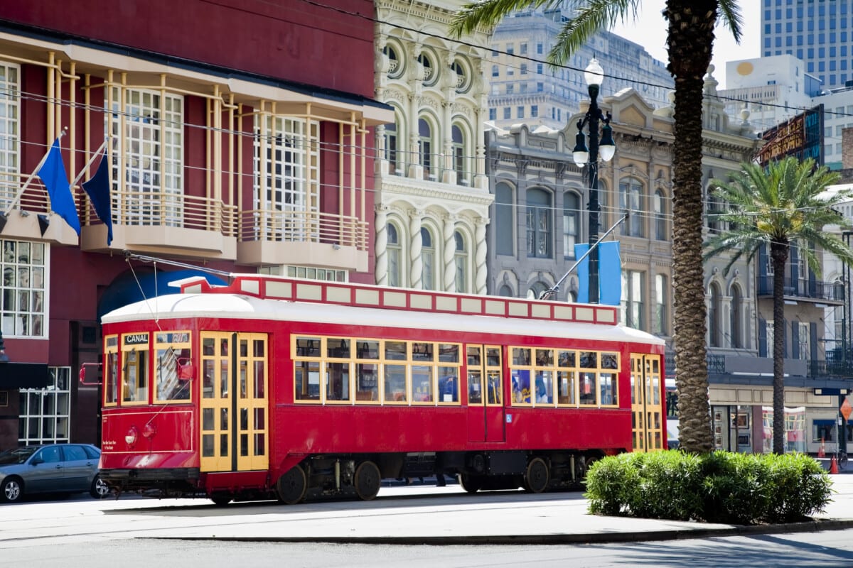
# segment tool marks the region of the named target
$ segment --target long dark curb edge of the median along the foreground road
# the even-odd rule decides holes
[[[733,525],[721,529],[676,529],[672,531],[623,531],[550,535],[483,536],[142,536],[171,541],[222,542],[328,542],[330,544],[386,545],[522,545],[604,544],[616,542],[673,541],[711,536],[773,535],[796,532],[843,531],[853,528],[853,519],[816,519],[780,525]]]

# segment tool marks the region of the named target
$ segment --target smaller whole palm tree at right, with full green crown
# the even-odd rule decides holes
[[[722,252],[734,253],[723,273],[741,256],[755,258],[767,247],[773,265],[773,451],[785,453],[785,265],[792,244],[798,246],[809,268],[820,275],[813,245],[830,252],[846,265],[853,264],[853,254],[832,233],[823,232],[825,225],[850,228],[833,206],[850,199],[853,192],[824,193],[827,186],[838,183],[840,176],[826,166],[815,169],[811,158],[799,162],[788,157],[770,162],[765,169],[758,164],[741,164],[741,171],[731,181],[713,180],[713,192],[728,203],[728,213],[718,220],[728,223],[728,230],[711,236],[705,243],[705,260]]]

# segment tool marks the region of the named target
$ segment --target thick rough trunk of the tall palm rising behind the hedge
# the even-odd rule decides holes
[[[702,266],[702,89],[711,63],[716,0],[667,0],[670,72],[676,81],[673,173],[673,284],[676,386],[683,450],[713,447],[705,360]]]

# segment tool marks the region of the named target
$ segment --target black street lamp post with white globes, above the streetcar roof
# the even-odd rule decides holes
[[[575,149],[572,151],[572,159],[578,166],[587,166],[589,171],[589,303],[597,304],[599,301],[598,284],[598,225],[601,215],[601,204],[598,201],[598,157],[601,151],[601,159],[609,162],[616,152],[613,143],[613,129],[610,126],[611,114],[601,112],[598,106],[598,94],[601,83],[604,81],[604,70],[601,69],[598,60],[592,58],[589,66],[583,72],[589,90],[589,109],[581,120],[577,121],[577,137]],[[601,127],[601,141],[599,141],[599,122],[604,123]],[[589,126],[589,150],[584,140],[583,127]]]

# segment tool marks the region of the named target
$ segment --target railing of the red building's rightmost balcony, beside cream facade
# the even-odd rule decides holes
[[[312,242],[368,249],[368,224],[356,217],[318,211],[252,209],[240,214],[241,242]]]

